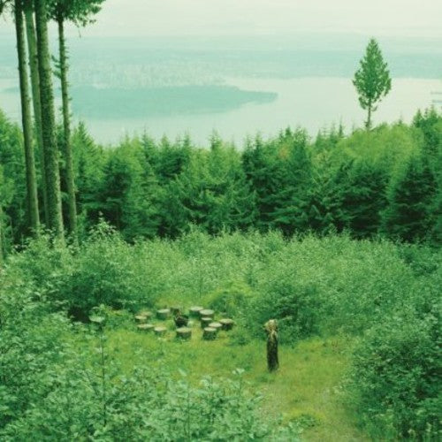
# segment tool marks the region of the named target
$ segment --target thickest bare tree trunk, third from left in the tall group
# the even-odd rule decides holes
[[[34,0],[34,5],[49,227],[58,239],[64,240],[46,0]]]

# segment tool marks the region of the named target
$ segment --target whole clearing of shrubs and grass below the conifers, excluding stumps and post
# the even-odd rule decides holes
[[[42,235],[2,271],[0,434],[437,438],[441,260],[429,246],[347,234],[194,229],[128,244],[102,222],[79,247]],[[136,331],[133,312],[177,304],[225,312],[235,328],[213,342],[199,325],[188,342],[171,324],[162,339]],[[265,369],[271,317],[276,374]]]

